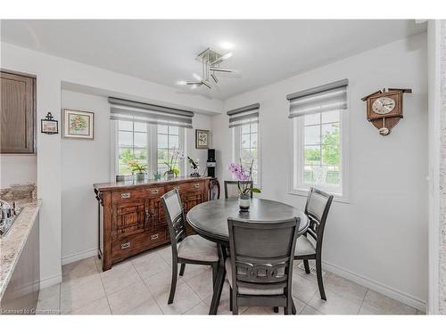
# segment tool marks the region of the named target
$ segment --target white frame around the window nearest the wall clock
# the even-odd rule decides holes
[[[349,105],[349,94],[347,93],[347,105]],[[290,184],[289,193],[298,196],[308,196],[310,187],[313,184],[303,183],[303,118],[295,117],[291,120],[292,134],[292,154],[290,155]],[[339,142],[341,150],[341,185],[340,186],[321,186],[322,191],[332,193],[335,201],[349,203],[350,183],[349,183],[349,130],[350,130],[350,112],[347,110],[339,111]],[[340,189],[341,188],[341,189]]]

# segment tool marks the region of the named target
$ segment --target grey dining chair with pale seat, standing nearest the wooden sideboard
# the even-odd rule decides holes
[[[161,203],[169,225],[172,248],[172,281],[168,300],[168,304],[172,304],[177,289],[178,264],[181,264],[180,276],[185,273],[186,264],[211,265],[212,284],[214,284],[219,266],[219,254],[214,242],[205,240],[197,234],[186,236],[186,219],[177,188],[165,193],[161,197]]]

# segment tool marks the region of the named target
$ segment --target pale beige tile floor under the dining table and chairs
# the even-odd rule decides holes
[[[167,304],[171,253],[158,248],[132,257],[102,272],[90,257],[62,268],[62,284],[42,289],[39,314],[208,314],[211,269],[186,265],[178,280],[174,303]],[[421,314],[415,308],[326,272],[327,301],[321,300],[316,277],[297,264],[293,272],[293,299],[298,314]],[[241,314],[274,314],[270,307],[241,307]],[[229,312],[229,289],[223,289],[219,314]],[[283,314],[282,309],[279,314]]]

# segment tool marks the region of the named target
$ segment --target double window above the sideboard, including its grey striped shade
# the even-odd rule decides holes
[[[175,151],[186,150],[185,129],[192,128],[194,112],[113,97],[108,101],[115,151],[111,179],[131,174],[130,161],[146,165],[149,178],[155,173],[164,174]],[[186,161],[173,163],[171,167],[184,175]]]

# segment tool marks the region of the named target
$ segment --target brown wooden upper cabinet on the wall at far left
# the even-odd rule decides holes
[[[35,153],[36,79],[0,72],[0,153]]]

